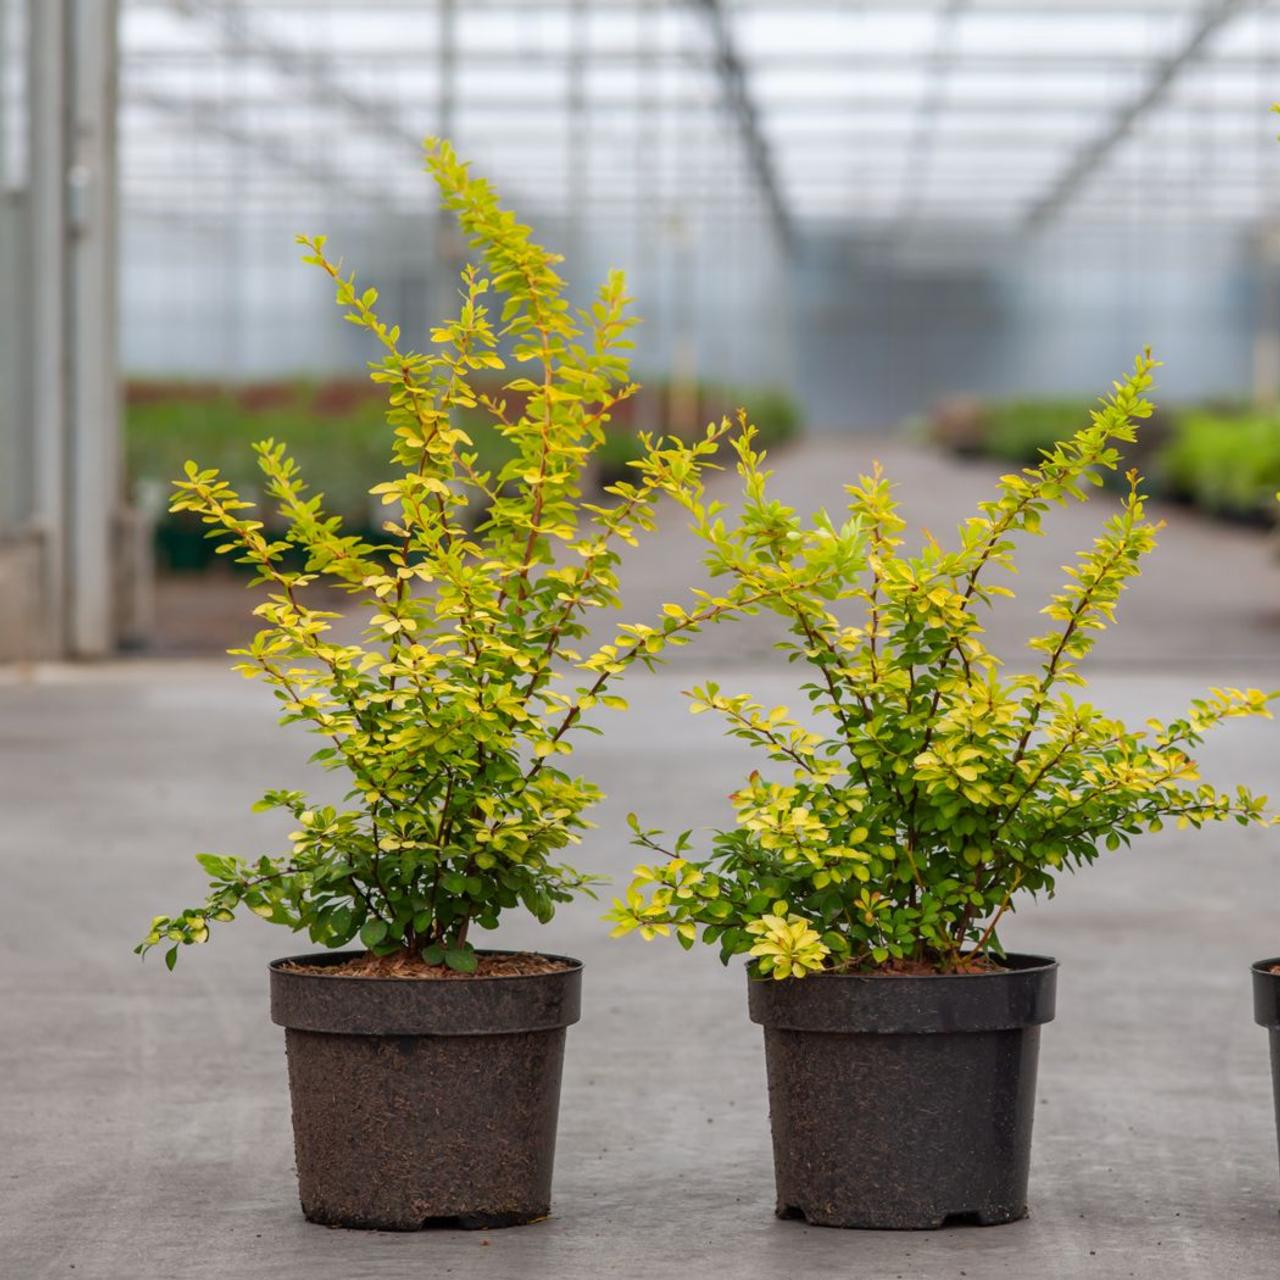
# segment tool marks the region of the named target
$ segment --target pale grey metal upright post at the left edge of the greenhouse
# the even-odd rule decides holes
[[[115,0],[28,0],[31,655],[116,643]],[[28,648],[28,646],[23,646]],[[27,655],[27,654],[20,654]]]

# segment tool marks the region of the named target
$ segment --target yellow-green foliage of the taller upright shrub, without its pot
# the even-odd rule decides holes
[[[216,470],[188,463],[174,511],[196,512],[266,584],[255,613],[262,628],[243,649],[244,676],[269,684],[282,723],[324,740],[314,759],[342,771],[343,806],[301,791],[268,791],[296,828],[278,856],[201,855],[211,878],[201,906],[151,923],[140,952],[204,942],[215,922],[244,906],[321,946],[360,941],[376,954],[402,948],[429,963],[475,968],[468,931],[493,928],[524,906],[548,920],[589,879],[554,859],[588,826],[600,797],[561,768],[571,736],[596,705],[623,708],[612,686],[632,663],[650,663],[703,623],[751,608],[754,572],[721,596],[696,593],[668,604],[654,625],[617,630],[580,653],[585,618],[620,605],[620,544],[653,527],[663,494],[701,502],[701,474],[728,424],[694,443],[646,442],[634,483],[611,502],[580,498],[582,470],[611,411],[635,390],[626,349],[628,298],[612,274],[591,307],[575,314],[556,271],[559,259],[499,207],[443,142],[428,166],[484,269],[462,273],[461,311],[431,333],[431,352],[407,349],[384,323],[374,289],[326,256],[324,238],[302,237],[306,261],[335,283],[344,319],[381,346],[372,379],[388,393],[390,468],[375,488],[388,508],[385,540],[343,532],[308,493],[285,445],[256,445],[264,492],[285,524],[264,531]],[[499,297],[498,315],[488,300]],[[477,371],[499,370],[499,339],[521,370],[506,385],[524,407],[479,394]],[[483,470],[460,411],[481,410],[509,442],[497,474]],[[477,500],[488,516],[468,531]],[[296,563],[303,549],[306,567]],[[348,591],[366,611],[364,640],[338,639],[335,617],[307,603],[308,588]]]

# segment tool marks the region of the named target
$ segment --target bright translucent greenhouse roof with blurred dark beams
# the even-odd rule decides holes
[[[1239,0],[124,0],[124,200],[421,209],[444,133],[526,207],[748,204],[780,243],[1249,225],[1277,70]]]

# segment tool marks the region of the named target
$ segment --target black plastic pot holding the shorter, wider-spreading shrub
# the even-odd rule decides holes
[[[1039,1027],[1057,964],[751,979],[780,1217],[920,1230],[1027,1216]]]

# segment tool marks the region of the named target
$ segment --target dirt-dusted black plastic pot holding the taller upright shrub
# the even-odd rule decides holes
[[[564,1029],[579,1019],[582,966],[553,956],[570,968],[435,980],[282,968],[352,955],[270,968],[302,1212],[384,1231],[545,1217]]]

